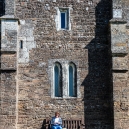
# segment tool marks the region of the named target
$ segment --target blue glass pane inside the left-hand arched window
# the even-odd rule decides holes
[[[58,66],[55,66],[54,73],[55,73],[55,97],[58,97],[59,96],[59,68]]]

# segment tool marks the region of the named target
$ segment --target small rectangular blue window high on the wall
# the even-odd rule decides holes
[[[68,9],[60,9],[60,28],[68,29]]]

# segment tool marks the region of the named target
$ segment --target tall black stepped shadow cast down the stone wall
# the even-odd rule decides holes
[[[109,20],[112,1],[101,0],[95,8],[95,38],[88,49],[89,73],[84,79],[86,129],[113,129],[113,82]]]

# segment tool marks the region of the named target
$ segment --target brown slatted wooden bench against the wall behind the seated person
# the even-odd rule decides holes
[[[45,119],[44,129],[51,128],[50,122],[51,122],[51,119]],[[63,119],[62,127],[66,129],[84,129],[85,128],[82,119]]]

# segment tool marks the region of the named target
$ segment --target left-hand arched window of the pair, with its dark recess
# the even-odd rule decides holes
[[[54,96],[62,97],[62,67],[58,62],[54,66]]]

